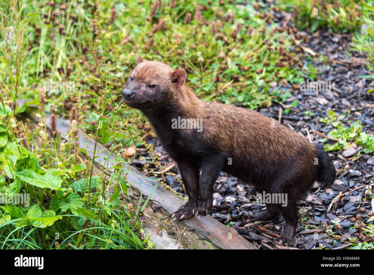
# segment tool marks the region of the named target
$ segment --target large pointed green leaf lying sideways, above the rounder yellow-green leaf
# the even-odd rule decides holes
[[[62,185],[61,177],[49,173],[41,175],[31,169],[15,173],[14,176],[19,177],[19,179],[23,180],[24,182],[40,188],[58,190]]]

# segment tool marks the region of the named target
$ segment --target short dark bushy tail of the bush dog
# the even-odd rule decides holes
[[[327,152],[322,146],[316,146],[318,155],[317,182],[323,187],[329,187],[334,183],[336,170]]]

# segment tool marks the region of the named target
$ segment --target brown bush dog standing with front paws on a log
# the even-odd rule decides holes
[[[269,203],[246,221],[270,220],[281,213],[285,227],[278,241],[289,244],[303,193],[316,181],[325,187],[334,182],[336,172],[327,152],[259,112],[199,100],[184,84],[186,77],[183,68],[145,61],[138,54],[137,66],[122,91],[125,103],[147,117],[178,164],[188,202],[172,217],[208,214],[215,181],[224,171],[260,194],[287,194],[286,206]],[[182,119],[175,127],[175,121]]]

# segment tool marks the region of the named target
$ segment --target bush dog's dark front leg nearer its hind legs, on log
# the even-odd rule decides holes
[[[197,217],[200,219],[206,216],[213,208],[214,183],[220,175],[224,166],[224,158],[220,155],[212,155],[203,158],[201,174],[199,180],[199,206],[197,208]]]

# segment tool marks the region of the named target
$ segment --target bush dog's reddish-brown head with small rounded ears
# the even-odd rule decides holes
[[[162,109],[175,102],[186,81],[184,69],[173,69],[162,62],[146,61],[137,55],[137,66],[122,91],[127,105],[140,110]]]

